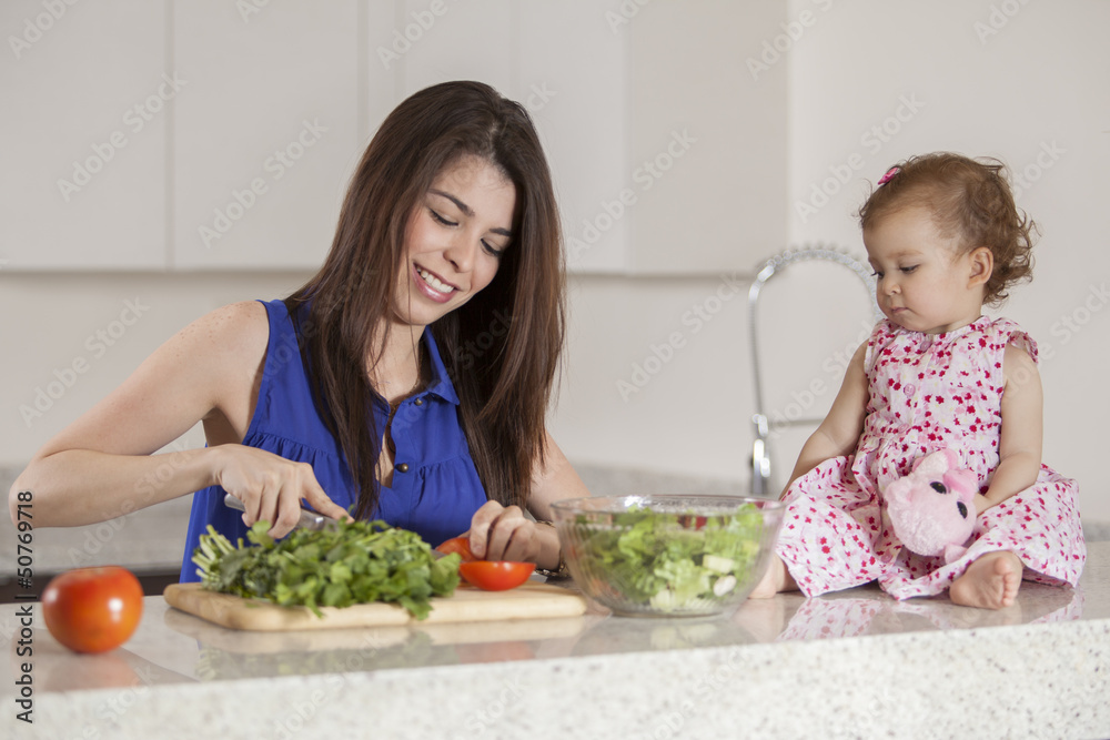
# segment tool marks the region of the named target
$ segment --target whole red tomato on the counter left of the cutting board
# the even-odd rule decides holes
[[[139,626],[142,586],[119,566],[70,570],[47,584],[42,617],[54,639],[70,650],[112,650]]]

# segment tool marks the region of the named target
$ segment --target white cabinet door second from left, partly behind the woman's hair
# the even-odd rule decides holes
[[[359,10],[174,3],[174,267],[323,262],[363,145]]]

